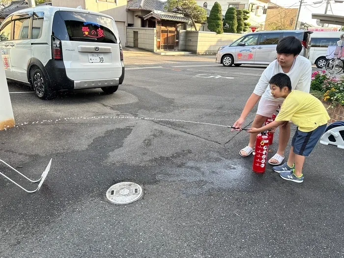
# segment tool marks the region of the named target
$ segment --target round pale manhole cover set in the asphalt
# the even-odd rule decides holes
[[[109,188],[106,197],[116,204],[127,204],[138,200],[142,196],[140,185],[132,182],[121,182]]]

